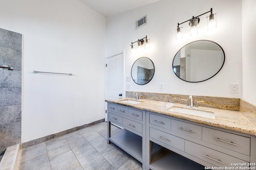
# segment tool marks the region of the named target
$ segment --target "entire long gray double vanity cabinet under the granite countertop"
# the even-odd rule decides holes
[[[110,123],[124,129],[111,135]],[[142,162],[143,170],[225,169],[234,167],[232,163],[256,163],[256,136],[118,104],[108,103],[107,135],[108,143]]]

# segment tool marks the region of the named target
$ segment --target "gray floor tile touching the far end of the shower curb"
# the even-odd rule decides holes
[[[28,161],[32,158],[35,158],[45,153],[47,153],[47,150],[44,142],[34,145],[32,147],[25,148],[22,150],[22,154],[21,154],[22,158],[20,162]]]

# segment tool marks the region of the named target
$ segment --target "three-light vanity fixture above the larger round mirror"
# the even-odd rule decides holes
[[[211,14],[209,16],[206,17],[207,19],[207,30],[210,30],[210,29],[214,29],[217,27],[217,22],[216,22],[216,14],[213,14],[212,13],[212,8],[210,11]],[[204,14],[207,14],[208,12],[205,12]],[[190,35],[196,35],[198,34],[198,24],[200,22],[200,16],[204,15],[204,14],[201,14],[199,16],[196,16],[196,17],[192,17],[191,19],[187,20],[187,21],[184,21],[182,23],[185,23],[185,22],[188,22],[189,21],[189,26],[190,26]],[[178,27],[176,29],[176,40],[181,40],[182,39],[182,30],[180,27],[180,25],[182,23],[178,23]]]

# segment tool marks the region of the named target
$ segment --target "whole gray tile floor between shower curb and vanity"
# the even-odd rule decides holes
[[[120,129],[111,125],[112,135]],[[107,144],[107,123],[25,148],[17,170],[142,170],[142,164],[113,143]]]

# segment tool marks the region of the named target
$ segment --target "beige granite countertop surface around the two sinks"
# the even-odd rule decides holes
[[[214,112],[215,118],[210,119],[205,117],[178,113],[174,111],[168,111],[168,109],[172,106],[184,107],[184,104],[159,102],[159,101],[145,100],[145,99],[137,100],[141,102],[139,104],[129,104],[129,103],[121,102],[122,100],[135,100],[135,99],[134,98],[118,98],[118,99],[111,99],[111,100],[105,100],[105,101],[113,104],[119,104],[122,106],[128,106],[135,109],[151,111],[151,112],[159,113],[162,115],[172,116],[172,117],[176,117],[179,119],[184,119],[184,120],[188,120],[196,123],[202,123],[204,125],[220,127],[223,129],[228,129],[228,130],[256,136],[256,114],[254,113],[246,113],[246,112],[240,112],[240,111],[230,111],[225,109],[215,109],[210,107],[198,106],[199,110]]]

